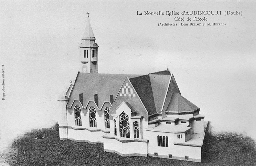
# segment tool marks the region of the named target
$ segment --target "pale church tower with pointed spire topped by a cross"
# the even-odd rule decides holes
[[[95,43],[95,37],[92,31],[89,20],[89,13],[87,12],[87,21],[85,26],[82,42],[79,45],[81,73],[98,73],[98,44]]]

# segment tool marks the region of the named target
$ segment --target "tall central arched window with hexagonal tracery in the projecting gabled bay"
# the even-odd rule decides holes
[[[130,123],[129,117],[126,113],[121,113],[119,116],[119,125],[120,125],[120,137],[130,138]]]

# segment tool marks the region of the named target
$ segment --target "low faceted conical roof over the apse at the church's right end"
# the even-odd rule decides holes
[[[172,95],[171,101],[166,111],[183,112],[183,111],[193,111],[196,109],[198,109],[198,106],[188,101],[179,93],[174,93]]]

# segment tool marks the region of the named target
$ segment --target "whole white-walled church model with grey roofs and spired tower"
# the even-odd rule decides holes
[[[88,18],[80,71],[58,98],[60,139],[103,143],[121,156],[201,162],[207,122],[173,74],[98,74],[98,47]]]

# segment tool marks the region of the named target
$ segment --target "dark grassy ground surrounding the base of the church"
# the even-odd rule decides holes
[[[45,134],[45,139],[35,139]],[[33,130],[17,139],[13,152],[3,155],[10,165],[256,165],[255,142],[236,133],[207,134],[202,149],[202,163],[155,157],[121,157],[103,152],[103,144],[91,145],[59,140],[59,129]]]

